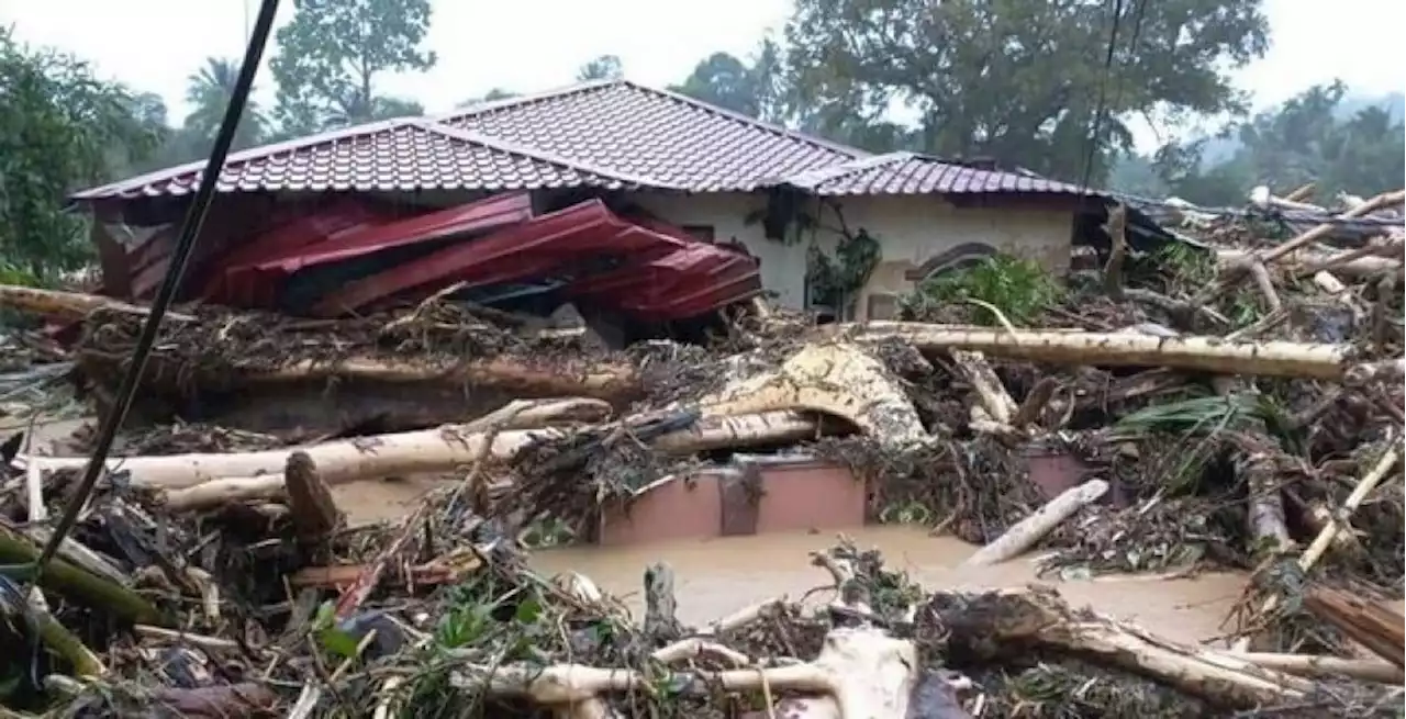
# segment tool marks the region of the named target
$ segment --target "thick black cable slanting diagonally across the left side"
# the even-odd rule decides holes
[[[229,105],[225,107],[225,118],[219,124],[219,133],[215,135],[215,146],[209,150],[209,161],[200,177],[200,190],[195,191],[195,198],[191,201],[190,209],[186,211],[184,222],[181,222],[179,240],[176,242],[176,249],[172,251],[170,265],[166,270],[166,278],[162,279],[162,286],[156,293],[156,301],[152,302],[146,323],[142,324],[142,334],[136,340],[132,362],[127,368],[127,375],[122,376],[121,388],[117,390],[117,402],[107,413],[107,417],[103,417],[93,456],[83,470],[83,482],[79,484],[77,493],[75,493],[63,508],[63,515],[59,518],[58,527],[53,528],[48,543],[44,545],[44,550],[39,552],[39,558],[34,560],[34,573],[30,577],[34,586],[38,586],[44,574],[44,567],[53,559],[53,555],[59,550],[59,545],[73,531],[73,525],[77,524],[79,513],[87,504],[89,496],[93,494],[93,487],[97,486],[98,477],[103,476],[107,455],[112,451],[117,431],[122,427],[122,421],[132,407],[132,400],[136,397],[136,388],[141,383],[142,374],[146,371],[146,360],[150,357],[152,345],[156,343],[156,331],[160,329],[162,317],[166,316],[172,301],[176,299],[176,291],[180,288],[186,265],[190,263],[190,256],[195,249],[195,239],[205,223],[209,202],[215,197],[215,184],[219,181],[219,173],[225,169],[229,146],[235,142],[235,129],[239,126],[239,118],[243,115],[245,105],[249,104],[249,91],[253,88],[254,74],[259,72],[259,63],[263,60],[263,51],[269,45],[269,35],[273,32],[273,20],[277,13],[278,0],[262,0],[259,18],[254,21],[254,31],[249,37],[249,45],[245,48],[245,62],[239,66],[239,79],[235,81]]]

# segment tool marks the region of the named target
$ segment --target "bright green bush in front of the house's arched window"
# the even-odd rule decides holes
[[[922,315],[924,306],[942,306],[966,301],[986,302],[1001,310],[1012,324],[1029,324],[1043,309],[1057,303],[1064,288],[1033,260],[997,254],[980,263],[925,281],[903,299],[904,312]],[[998,320],[981,309],[987,324]]]

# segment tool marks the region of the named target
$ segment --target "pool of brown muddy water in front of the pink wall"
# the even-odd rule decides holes
[[[928,536],[908,527],[870,527],[848,532],[860,548],[877,548],[890,566],[903,569],[925,587],[963,590],[1019,587],[1032,581],[1054,584],[1076,607],[1136,622],[1181,642],[1213,640],[1220,622],[1239,597],[1244,579],[1209,574],[1197,579],[1108,577],[1092,581],[1036,580],[1029,560],[995,567],[956,569],[974,549],[957,539]],[[700,625],[749,604],[779,595],[800,597],[825,583],[810,566],[808,552],[834,543],[831,535],[734,536],[702,542],[669,542],[630,548],[564,548],[538,552],[540,572],[579,572],[602,590],[621,597],[637,616],[644,567],[668,562],[676,574],[679,619]]]

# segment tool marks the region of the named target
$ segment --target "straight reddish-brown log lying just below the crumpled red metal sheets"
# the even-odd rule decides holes
[[[536,396],[583,396],[609,400],[640,396],[641,382],[634,368],[619,362],[540,362],[523,360],[474,360],[461,364],[425,364],[370,357],[336,362],[295,362],[278,369],[242,368],[250,383],[283,383],[325,379],[375,382],[464,382]]]

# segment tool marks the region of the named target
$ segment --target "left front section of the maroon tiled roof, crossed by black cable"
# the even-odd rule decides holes
[[[73,199],[193,194],[204,161],[73,195]],[[474,138],[425,119],[388,119],[229,156],[221,192],[621,188],[633,178]]]

